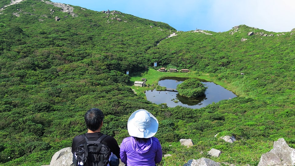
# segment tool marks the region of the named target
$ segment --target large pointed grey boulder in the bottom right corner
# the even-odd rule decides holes
[[[262,154],[258,166],[288,166],[295,164],[295,149],[290,148],[284,138],[273,143],[273,149]]]

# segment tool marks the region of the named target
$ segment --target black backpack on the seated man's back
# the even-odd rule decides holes
[[[84,166],[106,166],[108,164],[111,149],[101,143],[107,136],[102,135],[96,141],[90,141],[85,134],[82,135],[86,142],[78,147],[76,152],[77,161],[83,162]]]

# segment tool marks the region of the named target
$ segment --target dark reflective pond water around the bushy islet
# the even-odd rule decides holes
[[[176,86],[182,83],[187,78],[179,77],[169,77],[164,80],[160,80],[158,84],[166,88],[176,89]],[[214,84],[214,82],[206,82],[205,80],[200,80],[206,87],[205,96],[198,98],[188,98],[183,97],[175,91],[156,91],[149,90],[146,91],[145,95],[148,101],[151,101],[155,104],[166,103],[168,107],[176,107],[177,105],[191,108],[199,109],[205,107],[209,104],[217,103],[221,100],[231,99],[237,97],[231,91],[223,88],[220,85]]]

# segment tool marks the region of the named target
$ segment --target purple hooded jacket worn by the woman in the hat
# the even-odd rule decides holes
[[[128,166],[155,166],[162,160],[162,147],[156,137],[151,137],[144,142],[135,141],[130,136],[121,143],[120,158]]]

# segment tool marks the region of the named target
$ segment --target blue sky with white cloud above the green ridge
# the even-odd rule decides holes
[[[176,30],[224,32],[245,24],[270,32],[295,28],[294,0],[51,0],[103,11],[117,10],[153,21],[165,22]]]

